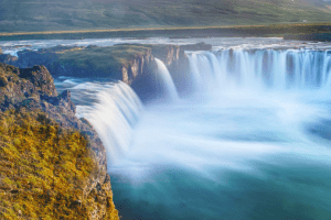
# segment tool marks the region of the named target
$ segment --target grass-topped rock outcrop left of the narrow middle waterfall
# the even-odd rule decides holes
[[[143,45],[56,46],[36,52],[22,51],[18,57],[0,55],[0,62],[21,68],[44,65],[55,77],[103,77],[128,85],[152,59],[151,48]]]

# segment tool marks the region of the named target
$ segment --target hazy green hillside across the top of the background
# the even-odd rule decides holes
[[[0,32],[330,22],[322,0],[1,0]]]

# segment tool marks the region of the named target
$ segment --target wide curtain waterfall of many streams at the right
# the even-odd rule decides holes
[[[189,52],[195,88],[323,88],[331,86],[331,54],[312,50]],[[214,84],[216,81],[216,84]]]

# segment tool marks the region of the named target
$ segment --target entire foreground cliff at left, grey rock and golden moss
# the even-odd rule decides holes
[[[43,66],[0,64],[0,218],[119,219],[105,147]]]

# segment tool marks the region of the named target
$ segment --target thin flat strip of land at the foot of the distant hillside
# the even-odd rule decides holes
[[[234,26],[182,26],[126,30],[81,30],[52,32],[0,33],[0,41],[82,40],[109,37],[212,37],[284,36],[286,34],[331,33],[331,23],[291,23]]]

